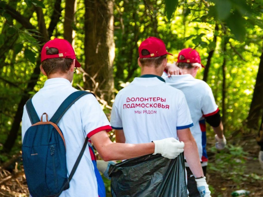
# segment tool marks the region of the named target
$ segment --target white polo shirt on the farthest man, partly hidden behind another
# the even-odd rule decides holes
[[[194,126],[190,128],[199,152],[200,161],[207,165],[206,126],[204,117],[214,115],[219,111],[215,103],[213,92],[209,85],[190,74],[172,75],[168,77],[164,72],[162,77],[166,84],[183,91],[190,109]]]

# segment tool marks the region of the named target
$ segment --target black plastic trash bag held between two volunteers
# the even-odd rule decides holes
[[[109,168],[112,197],[187,197],[184,154],[128,159]]]

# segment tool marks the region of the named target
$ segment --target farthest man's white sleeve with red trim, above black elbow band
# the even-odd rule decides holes
[[[204,116],[211,116],[217,113],[218,106],[215,103],[215,98],[213,95],[213,92],[208,84],[204,87],[204,94],[202,94],[202,100],[201,100],[201,110],[204,114]]]

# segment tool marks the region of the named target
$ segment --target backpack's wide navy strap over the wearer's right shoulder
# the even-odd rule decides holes
[[[93,94],[84,90],[76,91],[70,94],[59,106],[55,114],[50,119],[50,122],[58,124],[64,113],[82,96],[86,94]],[[94,95],[94,94],[93,94]]]

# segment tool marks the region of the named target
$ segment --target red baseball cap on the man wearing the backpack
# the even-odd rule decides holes
[[[47,55],[47,50],[49,48],[57,48],[58,54],[54,55]],[[75,59],[75,67],[80,67],[80,63],[76,59],[75,51],[72,45],[64,39],[55,38],[54,40],[49,40],[47,43],[44,44],[41,50],[41,62],[46,59],[52,58],[70,58]]]

